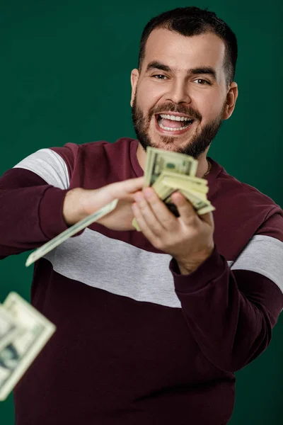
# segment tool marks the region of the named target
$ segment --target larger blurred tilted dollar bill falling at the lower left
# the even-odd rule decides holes
[[[0,351],[0,400],[6,399],[56,329],[16,293],[8,295],[4,308],[23,329]]]

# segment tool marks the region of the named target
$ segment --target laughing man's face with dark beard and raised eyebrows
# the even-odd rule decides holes
[[[141,73],[132,71],[132,118],[141,146],[189,154],[210,145],[227,115],[225,45],[212,33],[153,30]],[[235,84],[235,83],[234,83]]]

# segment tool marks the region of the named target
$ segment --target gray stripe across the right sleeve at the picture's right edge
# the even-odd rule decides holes
[[[243,249],[231,270],[260,273],[274,282],[283,293],[283,242],[275,237],[256,234]]]

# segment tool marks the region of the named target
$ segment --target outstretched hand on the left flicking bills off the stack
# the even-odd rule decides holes
[[[98,220],[100,225],[112,230],[134,230],[132,203],[134,193],[141,191],[144,177],[108,184],[99,189],[74,188],[67,192],[63,205],[63,217],[68,226],[105,207],[118,199],[115,210]]]

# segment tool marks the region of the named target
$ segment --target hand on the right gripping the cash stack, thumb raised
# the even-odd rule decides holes
[[[214,249],[212,212],[197,215],[192,204],[180,192],[171,199],[180,217],[175,217],[153,188],[134,194],[132,205],[139,228],[156,248],[175,258],[182,274],[192,273]]]

